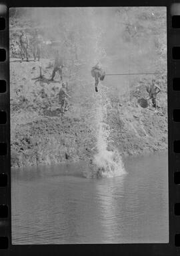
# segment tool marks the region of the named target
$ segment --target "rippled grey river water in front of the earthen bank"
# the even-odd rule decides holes
[[[11,170],[13,244],[168,243],[167,153],[83,178],[83,162]]]

